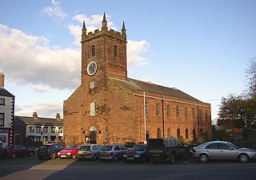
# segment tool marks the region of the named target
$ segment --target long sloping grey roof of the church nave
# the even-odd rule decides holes
[[[144,82],[142,80],[134,80],[131,78],[127,78],[127,80],[120,80],[120,79],[111,77],[111,79],[113,79],[115,82],[122,85],[123,87],[129,89],[130,91],[150,92],[150,93],[155,93],[162,96],[176,97],[183,100],[192,100],[192,101],[202,103],[202,101],[194,98],[193,96],[186,94],[185,92],[182,92],[178,88],[168,88],[158,84],[152,84],[149,82]]]

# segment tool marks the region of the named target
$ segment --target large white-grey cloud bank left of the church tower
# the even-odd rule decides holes
[[[50,49],[45,37],[26,35],[0,25],[0,70],[14,84],[78,87],[81,55],[74,49]]]

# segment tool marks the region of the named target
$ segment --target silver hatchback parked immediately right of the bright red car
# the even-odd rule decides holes
[[[82,145],[78,151],[78,160],[91,159],[95,161],[99,157],[101,145],[98,144],[87,144]]]

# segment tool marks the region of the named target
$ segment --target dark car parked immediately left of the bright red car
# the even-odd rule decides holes
[[[59,143],[50,143],[38,148],[38,158],[56,158],[58,151],[62,151],[64,147]]]

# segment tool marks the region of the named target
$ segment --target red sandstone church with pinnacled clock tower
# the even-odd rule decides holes
[[[211,138],[210,104],[158,84],[127,77],[126,28],[82,27],[81,84],[64,101],[66,143],[142,143],[176,137]]]

